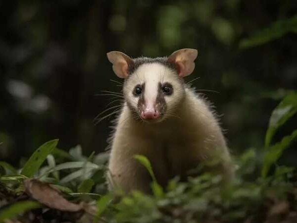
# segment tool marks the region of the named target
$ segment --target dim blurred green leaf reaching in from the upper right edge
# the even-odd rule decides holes
[[[297,15],[272,23],[269,27],[256,32],[239,43],[240,48],[249,48],[279,39],[289,32],[297,33]]]

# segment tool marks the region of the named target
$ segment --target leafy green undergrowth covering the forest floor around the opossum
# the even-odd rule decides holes
[[[271,114],[263,148],[234,158],[236,178],[227,185],[204,173],[187,182],[176,177],[162,188],[147,158],[136,156],[151,175],[152,195],[108,192],[107,153],[86,157],[80,146],[65,152],[51,140],[20,169],[0,162],[0,222],[295,223],[295,169],[277,161],[297,129],[272,139],[296,112],[297,92],[289,92]]]

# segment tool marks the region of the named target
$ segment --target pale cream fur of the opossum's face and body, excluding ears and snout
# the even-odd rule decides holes
[[[124,86],[126,103],[137,108],[133,95],[137,84],[146,83],[145,99],[154,102],[158,83],[169,82],[173,94],[165,96],[167,111],[162,121],[136,120],[127,104],[118,118],[109,160],[109,188],[125,191],[149,191],[150,176],[133,156],[145,155],[151,162],[158,182],[166,185],[173,176],[185,177],[188,170],[219,155],[216,171],[226,178],[233,175],[233,165],[221,128],[205,101],[185,87],[174,70],[160,63],[141,65]]]

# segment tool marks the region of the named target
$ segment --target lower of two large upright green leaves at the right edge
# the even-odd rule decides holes
[[[270,147],[264,155],[263,167],[261,170],[262,177],[266,177],[272,164],[274,164],[283,154],[284,150],[297,139],[297,130],[291,135],[285,136],[281,142]]]

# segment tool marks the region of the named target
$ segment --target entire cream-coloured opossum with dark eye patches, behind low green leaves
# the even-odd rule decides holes
[[[107,54],[113,71],[124,78],[124,105],[111,140],[107,178],[109,189],[150,191],[148,171],[134,159],[148,158],[158,183],[217,159],[211,171],[224,178],[233,165],[222,130],[209,105],[183,80],[194,70],[197,50],[182,49],[169,57],[132,59]]]

